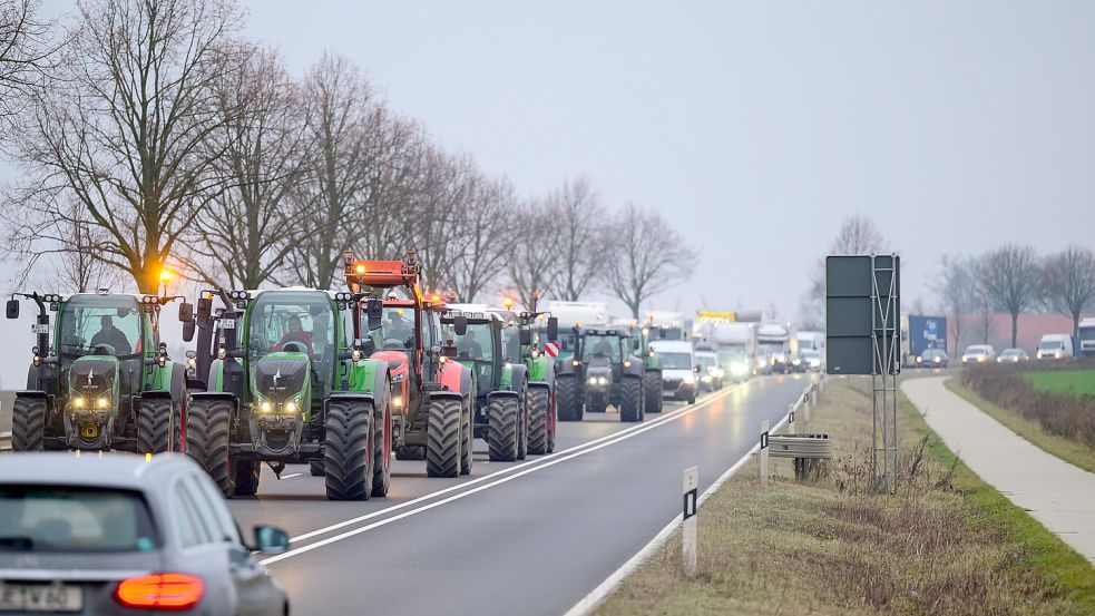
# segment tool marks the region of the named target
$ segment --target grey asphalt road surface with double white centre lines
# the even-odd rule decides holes
[[[297,614],[558,615],[680,512],[685,468],[700,467],[703,491],[808,382],[754,379],[641,426],[615,413],[560,423],[560,451],[518,463],[479,453],[470,478],[428,479],[423,462],[395,462],[389,498],[366,502],[327,502],[306,467],[281,481],[264,469],[260,496],[229,505],[245,529],[275,524],[293,536],[265,563]]]

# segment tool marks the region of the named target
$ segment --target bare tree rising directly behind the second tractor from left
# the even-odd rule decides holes
[[[198,278],[231,289],[258,289],[283,267],[300,221],[289,194],[300,180],[304,116],[300,94],[277,55],[235,46],[215,82],[219,126],[208,147],[211,167],[228,187],[197,218],[188,237]]]

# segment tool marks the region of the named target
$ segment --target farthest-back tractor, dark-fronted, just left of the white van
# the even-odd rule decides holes
[[[648,400],[646,364],[634,354],[632,329],[583,325],[574,333],[574,355],[558,363],[556,374],[559,419],[581,421],[583,410],[603,413],[612,404],[620,421],[643,421]]]

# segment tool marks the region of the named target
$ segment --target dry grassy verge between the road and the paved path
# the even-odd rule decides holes
[[[1095,569],[980,481],[903,400],[902,487],[871,491],[863,383],[834,381],[805,429],[838,457],[806,482],[755,460],[700,512],[700,574],[675,536],[598,614],[1095,614]]]

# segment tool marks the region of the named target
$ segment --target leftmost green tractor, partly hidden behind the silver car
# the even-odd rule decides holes
[[[17,293],[38,306],[27,389],[16,393],[11,448],[160,453],[178,449],[186,377],[159,340],[178,297]],[[50,344],[49,313],[57,313]],[[14,295],[8,319],[19,317]]]

